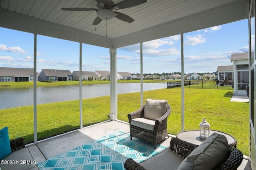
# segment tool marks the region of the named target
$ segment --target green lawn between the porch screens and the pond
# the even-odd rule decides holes
[[[210,129],[229,133],[237,139],[237,148],[249,154],[249,104],[230,102],[232,90],[185,89],[185,130],[199,129],[203,117]],[[181,89],[159,89],[144,92],[146,98],[168,100],[172,107],[168,133],[181,131]],[[83,126],[108,120],[110,96],[84,99]],[[127,114],[140,107],[140,92],[118,95],[117,118],[128,122]],[[79,128],[79,101],[37,106],[38,140]],[[2,109],[1,127],[8,126],[10,139],[24,137],[33,142],[33,106]]]

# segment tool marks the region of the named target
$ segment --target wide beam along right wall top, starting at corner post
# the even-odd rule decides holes
[[[210,10],[114,38],[114,48],[178,35],[248,18],[248,0],[237,0]]]

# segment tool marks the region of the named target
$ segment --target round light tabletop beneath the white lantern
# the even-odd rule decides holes
[[[221,135],[224,135],[228,139],[228,146],[236,148],[236,138],[234,138],[232,135],[221,131],[210,130],[210,135],[212,135],[212,133],[219,133]],[[178,139],[181,139],[182,141],[193,143],[195,145],[200,145],[204,141],[204,139],[201,139],[199,137],[199,130],[181,131],[176,135],[176,137]]]

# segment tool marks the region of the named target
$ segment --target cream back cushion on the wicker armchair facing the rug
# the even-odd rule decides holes
[[[168,101],[166,100],[147,99],[144,107],[144,118],[158,119],[166,112],[167,104]]]

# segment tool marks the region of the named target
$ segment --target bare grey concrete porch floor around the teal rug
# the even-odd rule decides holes
[[[66,135],[61,135],[54,139],[40,142],[36,145],[30,145],[28,146],[28,149],[38,164],[63,152],[67,152],[68,150],[74,149],[118,130],[124,133],[130,132],[128,124],[119,121],[108,121],[92,125]],[[169,147],[170,140],[171,137],[166,138],[159,144]],[[238,167],[238,170],[251,170],[250,162],[244,159],[242,164]]]

